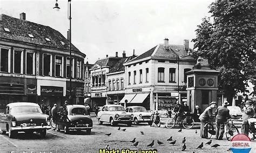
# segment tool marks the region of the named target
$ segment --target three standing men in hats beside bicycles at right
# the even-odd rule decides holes
[[[217,107],[217,103],[215,101],[212,101],[210,103],[210,106],[208,106],[199,116],[199,119],[201,121],[200,136],[202,138],[208,137],[208,129],[205,125],[206,123],[208,123],[209,120],[215,117],[216,139],[223,140],[225,122],[227,122],[227,119],[231,118],[230,111],[227,108],[228,105],[228,101],[224,101],[223,105],[219,106],[217,110],[213,112],[213,109]],[[248,123],[248,119],[253,118],[253,116],[254,108],[252,107],[252,101],[247,100],[245,103],[244,113],[242,114],[242,133],[246,135],[249,134],[250,125]]]

